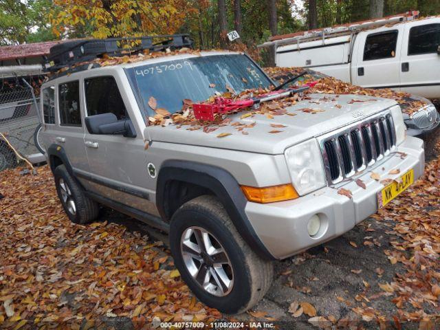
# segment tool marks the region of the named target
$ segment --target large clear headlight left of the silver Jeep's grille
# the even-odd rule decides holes
[[[316,139],[292,146],[284,155],[292,184],[299,195],[306,195],[325,186],[324,164]]]

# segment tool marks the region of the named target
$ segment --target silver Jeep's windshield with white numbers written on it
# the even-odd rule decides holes
[[[148,107],[151,97],[157,101],[157,109],[170,113],[180,111],[184,99],[204,101],[216,91],[223,94],[245,89],[270,87],[270,81],[250,58],[241,54],[210,55],[184,58],[131,67],[125,69],[135,87],[138,102],[145,115],[154,115]]]

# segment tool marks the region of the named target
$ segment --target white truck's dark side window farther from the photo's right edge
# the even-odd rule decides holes
[[[394,57],[396,54],[397,31],[370,34],[366,37],[364,61]]]

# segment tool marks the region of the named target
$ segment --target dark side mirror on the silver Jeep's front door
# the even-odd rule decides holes
[[[85,126],[91,134],[136,137],[136,131],[131,120],[118,120],[114,113],[90,115],[85,118]]]

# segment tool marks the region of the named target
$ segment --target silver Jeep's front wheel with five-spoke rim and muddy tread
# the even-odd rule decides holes
[[[272,283],[272,263],[243,241],[215,197],[192,199],[173,214],[170,248],[195,296],[223,313],[250,309]]]

